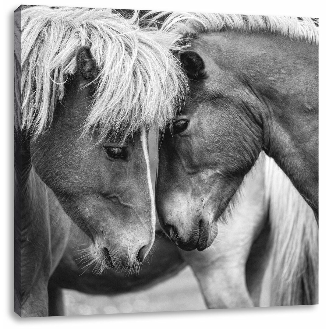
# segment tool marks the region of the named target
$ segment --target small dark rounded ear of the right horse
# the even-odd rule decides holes
[[[182,50],[178,53],[179,60],[183,63],[186,74],[191,79],[204,78],[206,66],[201,56],[192,50]]]

